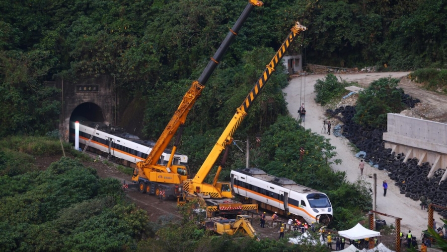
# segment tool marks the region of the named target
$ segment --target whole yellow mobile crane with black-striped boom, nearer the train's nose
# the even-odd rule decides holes
[[[230,189],[229,182],[218,182],[219,174],[222,170],[222,164],[219,166],[216,176],[214,177],[213,184],[204,183],[205,177],[210,173],[213,168],[216,160],[218,159],[221,152],[228,146],[233,138],[233,134],[237,127],[241,124],[242,120],[247,115],[247,110],[256,99],[256,97],[261,92],[262,88],[269,80],[270,76],[275,71],[275,67],[281,62],[281,59],[284,57],[284,54],[292,45],[292,42],[301,33],[301,31],[305,31],[306,27],[296,22],[295,26],[292,27],[291,33],[289,34],[286,41],[284,41],[281,48],[273,57],[272,61],[266,66],[266,69],[259,80],[256,82],[253,89],[250,91],[248,96],[245,98],[242,105],[237,108],[236,114],[232,117],[231,121],[228,123],[224,132],[220,136],[219,140],[214,145],[210,154],[206,158],[205,162],[200,167],[196,176],[193,179],[188,179],[183,182],[183,195],[184,200],[190,200],[193,198],[199,197],[199,202],[203,200],[206,201],[207,204],[207,212],[208,216],[214,215],[210,212],[219,212],[222,214],[240,214],[242,210],[249,210],[251,205],[246,205],[246,208],[242,206],[240,202],[234,201],[231,198],[234,197],[232,190]],[[223,160],[226,159],[224,155]],[[239,210],[240,209],[240,210]],[[256,207],[257,209],[257,207]],[[239,211],[238,211],[239,210]]]

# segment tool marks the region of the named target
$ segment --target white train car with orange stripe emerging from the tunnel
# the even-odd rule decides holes
[[[98,123],[79,120],[79,145],[85,146],[94,133],[88,148],[109,154],[121,161],[122,164],[135,167],[137,162],[144,161],[152,150],[154,142],[139,140],[135,135],[117,133],[114,128],[109,129],[104,124],[96,129]],[[70,139],[74,140],[74,122],[70,122]],[[166,164],[171,156],[171,151],[166,149],[158,160],[158,164]],[[172,164],[186,165],[188,156],[175,153]]]

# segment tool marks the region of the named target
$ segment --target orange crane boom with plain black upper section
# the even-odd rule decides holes
[[[169,142],[171,141],[172,137],[174,136],[177,129],[183,125],[186,121],[186,117],[191,110],[192,106],[196,102],[197,98],[199,98],[203,88],[205,87],[206,82],[210,78],[211,74],[213,73],[216,66],[219,64],[219,62],[222,60],[226,50],[230,46],[230,44],[233,42],[235,36],[239,32],[242,24],[247,20],[248,15],[251,13],[253,8],[255,6],[262,6],[263,2],[259,0],[249,0],[249,3],[243,10],[242,14],[237,19],[236,23],[233,25],[233,27],[230,29],[228,34],[226,35],[224,41],[222,42],[221,46],[217,50],[216,54],[213,58],[211,58],[210,62],[202,72],[201,76],[198,80],[194,81],[189,88],[189,90],[186,92],[186,94],[183,96],[183,99],[178,106],[177,110],[175,111],[173,117],[169,121],[168,125],[165,127],[163,132],[161,133],[160,137],[156,141],[154,147],[150,151],[148,157],[141,162],[137,163],[137,169],[141,170],[141,172],[135,171],[134,176],[132,178],[132,181],[136,182],[138,181],[138,178],[140,174],[146,174],[147,172],[159,172],[159,173],[171,173],[171,170],[169,167],[157,165],[158,160],[160,159],[163,151],[168,146]],[[175,148],[173,148],[173,151],[175,151]],[[171,154],[172,156],[172,154]],[[146,171],[145,168],[148,171]],[[173,170],[174,173],[176,173],[175,170]],[[146,174],[146,176],[149,178],[149,175]]]

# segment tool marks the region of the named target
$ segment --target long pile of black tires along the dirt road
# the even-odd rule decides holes
[[[403,92],[401,98],[402,102],[410,108],[420,102]],[[356,114],[355,107],[340,107],[335,110],[327,110],[326,113],[343,122],[342,134],[357,148],[367,153],[364,157],[366,162],[372,163],[378,170],[389,172],[389,178],[395,181],[396,186],[400,187],[401,194],[405,194],[406,197],[413,200],[419,200],[421,196],[425,196],[434,204],[447,205],[447,182],[443,181],[440,184],[444,174],[443,170],[436,171],[433,178],[427,178],[431,169],[429,163],[418,165],[416,158],[403,162],[404,153],[391,153],[391,149],[385,149],[382,134],[386,132],[386,128],[361,126],[354,123],[352,119]],[[447,210],[440,208],[435,208],[435,210],[440,211],[440,214],[447,219]]]

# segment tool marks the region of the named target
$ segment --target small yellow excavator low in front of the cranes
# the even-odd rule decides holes
[[[241,233],[259,241],[259,237],[250,223],[250,219],[251,216],[249,215],[237,215],[235,220],[212,221],[213,231],[220,235],[235,235]]]

